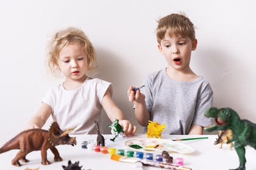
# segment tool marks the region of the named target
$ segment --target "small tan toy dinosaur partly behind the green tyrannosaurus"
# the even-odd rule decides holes
[[[223,143],[227,143],[227,141],[232,140],[232,131],[227,129],[226,131],[219,131],[218,138],[214,144],[219,144],[219,148],[222,148]],[[229,149],[231,150],[233,147],[233,142],[228,143]]]

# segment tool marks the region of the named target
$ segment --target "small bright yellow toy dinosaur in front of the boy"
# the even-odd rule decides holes
[[[158,123],[157,121],[150,121],[148,124],[147,138],[161,138],[161,132],[165,129],[165,124]]]

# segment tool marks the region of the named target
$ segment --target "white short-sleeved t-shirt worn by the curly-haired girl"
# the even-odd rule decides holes
[[[73,90],[65,90],[62,83],[49,89],[41,101],[52,108],[52,118],[60,129],[76,126],[70,134],[96,134],[94,120],[99,121],[108,87],[112,95],[112,84],[99,78],[87,79]]]

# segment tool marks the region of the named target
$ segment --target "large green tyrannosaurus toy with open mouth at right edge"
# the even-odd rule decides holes
[[[210,107],[205,111],[205,116],[215,118],[217,123],[216,125],[205,127],[205,131],[212,132],[226,129],[232,131],[232,140],[227,141],[227,143],[234,141],[233,147],[240,161],[240,165],[236,170],[246,169],[246,151],[244,147],[249,145],[256,149],[256,124],[248,120],[241,120],[235,110],[229,107],[221,109]]]

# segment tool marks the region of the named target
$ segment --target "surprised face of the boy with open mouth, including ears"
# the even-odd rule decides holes
[[[196,49],[197,40],[188,37],[172,36],[168,32],[158,44],[160,53],[165,56],[168,66],[176,70],[186,70],[190,67],[191,51]]]

